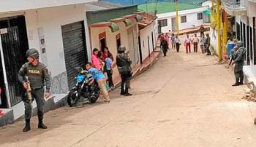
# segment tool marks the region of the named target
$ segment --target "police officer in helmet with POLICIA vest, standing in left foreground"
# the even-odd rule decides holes
[[[37,102],[37,116],[38,116],[38,128],[47,129],[47,126],[42,123],[42,119],[44,116],[44,106],[45,106],[45,98],[50,97],[50,76],[48,73],[48,69],[44,64],[39,62],[39,52],[37,49],[29,49],[26,52],[28,63],[25,63],[18,71],[18,79],[23,84],[23,87],[27,89],[28,85],[26,83],[25,76],[29,77],[29,82],[31,86],[31,95],[32,100],[36,100]],[[46,85],[46,92],[44,98],[44,86]],[[26,126],[23,129],[23,132],[28,132],[31,130],[30,127],[30,119],[31,119],[31,103],[29,103],[29,99],[26,97],[23,98],[25,105],[25,119]]]

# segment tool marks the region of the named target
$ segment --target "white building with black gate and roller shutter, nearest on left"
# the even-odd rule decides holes
[[[0,108],[13,111],[14,119],[23,115],[17,73],[27,49],[38,49],[50,71],[54,98],[48,103],[64,98],[74,85],[73,68],[91,54],[85,8],[91,1],[96,0],[1,1]]]

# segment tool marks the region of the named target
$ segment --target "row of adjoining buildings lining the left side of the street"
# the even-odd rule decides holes
[[[118,13],[117,13],[118,11]],[[23,87],[17,73],[26,63],[26,50],[39,50],[39,60],[48,66],[51,96],[45,108],[62,106],[67,92],[75,86],[75,67],[91,59],[91,49],[118,46],[128,49],[132,66],[140,66],[156,47],[157,23],[154,15],[137,6],[119,7],[95,0],[6,1],[0,6],[0,126],[24,114]],[[145,17],[143,17],[145,15]],[[148,17],[149,18],[149,17]],[[113,76],[119,76],[116,63]],[[36,107],[35,102],[33,103]]]

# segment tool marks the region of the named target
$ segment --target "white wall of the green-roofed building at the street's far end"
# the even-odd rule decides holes
[[[192,25],[199,26],[203,24],[202,20],[197,20],[197,13],[203,13],[204,11],[208,10],[208,7],[201,7],[197,9],[187,9],[184,11],[178,12],[178,24],[179,24],[179,30],[183,30],[186,28],[192,28]],[[187,15],[187,23],[181,23],[181,16]],[[167,26],[162,27],[162,32],[166,33],[169,30],[173,31],[176,30],[176,28],[173,28],[173,26],[176,26],[175,24],[172,24],[172,18],[176,17],[176,12],[167,12],[157,15],[158,20],[167,19]]]

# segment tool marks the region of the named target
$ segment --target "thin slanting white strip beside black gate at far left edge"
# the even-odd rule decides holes
[[[5,63],[4,63],[4,52],[3,52],[3,46],[1,44],[1,32],[0,32],[0,53],[1,53],[1,65],[4,73],[4,84],[5,84],[5,91],[7,96],[7,106],[8,108],[11,108],[12,106],[11,106],[11,100],[10,100],[9,86],[7,82],[7,72],[6,72]]]

